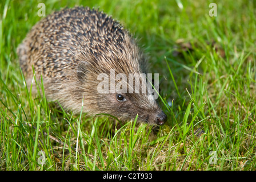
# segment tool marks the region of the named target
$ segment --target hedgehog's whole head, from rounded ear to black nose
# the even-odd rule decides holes
[[[122,63],[127,62],[122,60]],[[125,68],[123,65],[118,66],[106,69],[106,64],[97,67],[84,61],[78,64],[77,78],[83,89],[79,93],[87,95],[85,109],[93,114],[110,114],[122,121],[135,119],[138,114],[139,122],[163,125],[167,116],[157,103],[155,96],[158,94],[152,92],[149,74],[146,76],[135,68],[121,72]],[[132,71],[134,72],[131,73]],[[156,87],[158,88],[154,84],[154,88]]]

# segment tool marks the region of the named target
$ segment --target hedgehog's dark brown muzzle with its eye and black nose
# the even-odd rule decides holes
[[[117,117],[122,121],[135,119],[138,114],[138,121],[163,125],[167,116],[158,106],[155,100],[143,100],[146,94],[138,93],[109,93],[101,94],[97,100],[97,110]]]

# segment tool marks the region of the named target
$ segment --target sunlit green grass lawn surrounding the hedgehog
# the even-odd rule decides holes
[[[44,3],[46,14],[99,7],[137,36],[161,76],[169,119],[159,128],[115,127],[111,117],[74,115],[32,96],[15,50],[41,19],[38,2],[1,1],[1,170],[255,170],[255,1],[215,1],[217,17],[205,0]]]

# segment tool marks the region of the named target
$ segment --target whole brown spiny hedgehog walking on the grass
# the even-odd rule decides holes
[[[149,99],[152,93],[98,92],[99,75],[110,76],[111,70],[127,77],[146,74],[148,65],[137,40],[102,11],[81,6],[55,11],[31,28],[17,53],[27,86],[34,76],[42,76],[47,100],[58,101],[66,110],[105,113],[120,121],[138,115],[138,122],[153,125],[167,121],[157,99]],[[123,88],[135,84],[120,79]],[[114,84],[120,79],[114,77]],[[146,84],[143,79],[135,80],[141,86]]]

